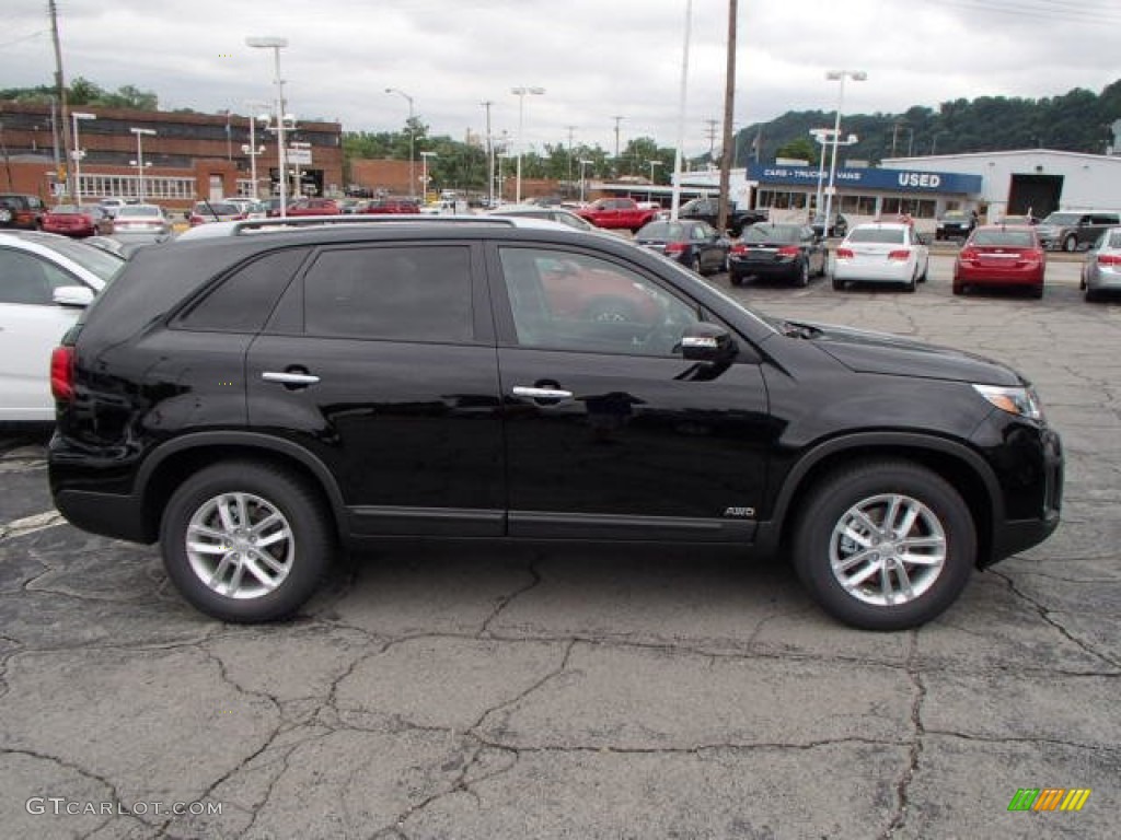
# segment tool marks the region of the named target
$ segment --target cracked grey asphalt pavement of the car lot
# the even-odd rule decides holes
[[[733,292],[1008,361],[1063,433],[1056,534],[909,633],[837,625],[782,563],[655,547],[402,545],[225,626],[154,547],[64,523],[46,436],[0,431],[0,837],[1115,837],[1121,302],[1083,302],[1077,262],[1041,302],[949,270]],[[1092,793],[1008,811],[1046,787]]]

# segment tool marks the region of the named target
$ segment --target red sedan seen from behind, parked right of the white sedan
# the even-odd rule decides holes
[[[974,227],[954,262],[954,295],[970,287],[1015,286],[1044,296],[1047,254],[1035,228],[1012,225]]]

